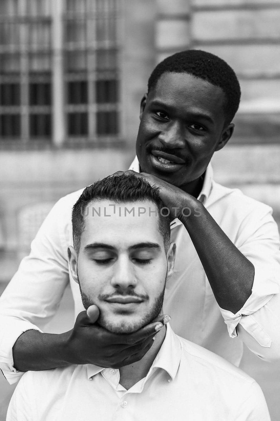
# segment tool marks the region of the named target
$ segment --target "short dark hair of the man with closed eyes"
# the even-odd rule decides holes
[[[163,237],[165,253],[170,247],[170,217],[160,199],[159,187],[151,186],[145,179],[134,174],[107,176],[86,187],[72,209],[73,245],[79,254],[81,234],[85,229],[85,209],[98,200],[111,200],[115,203],[152,201],[157,208],[158,229]],[[155,209],[151,210],[155,211]],[[163,216],[163,215],[165,216]]]

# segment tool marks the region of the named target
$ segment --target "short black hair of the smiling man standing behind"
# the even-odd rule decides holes
[[[225,93],[225,123],[229,124],[239,107],[241,90],[233,69],[220,57],[201,50],[175,53],[161,61],[148,80],[148,94],[155,88],[163,73],[188,73],[219,86]]]

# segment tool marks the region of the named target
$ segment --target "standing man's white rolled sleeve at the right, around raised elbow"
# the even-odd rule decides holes
[[[220,311],[231,338],[239,335],[256,355],[275,361],[280,359],[280,346],[275,349],[280,343],[279,324],[276,328],[280,320],[280,241],[272,209],[265,208],[261,216],[248,216],[239,239],[239,250],[255,269],[251,296],[236,314]]]

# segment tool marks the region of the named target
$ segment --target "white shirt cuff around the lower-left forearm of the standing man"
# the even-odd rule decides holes
[[[26,330],[43,332],[32,323],[14,317],[1,317],[0,325],[0,369],[8,382],[13,384],[24,374],[24,371],[18,371],[13,366],[13,346],[16,340]]]

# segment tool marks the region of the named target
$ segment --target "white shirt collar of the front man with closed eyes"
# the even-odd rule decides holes
[[[169,376],[170,381],[173,381],[181,361],[181,344],[178,337],[175,335],[173,330],[171,329],[169,323],[166,325],[166,333],[165,338],[160,347],[160,350],[157,356],[154,359],[154,362],[149,369],[149,372],[145,378],[144,383],[147,379],[152,375],[154,369],[162,368],[165,370]],[[95,376],[96,374],[100,373],[101,371],[105,370],[105,368],[98,367],[97,365],[93,364],[86,364],[86,372],[88,380]],[[143,386],[144,386],[143,383]]]

